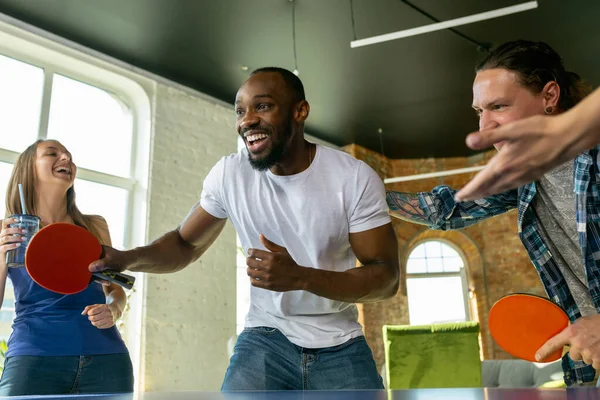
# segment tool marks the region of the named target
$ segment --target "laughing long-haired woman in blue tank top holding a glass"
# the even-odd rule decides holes
[[[23,184],[29,214],[40,228],[63,222],[92,232],[110,245],[106,221],[83,215],[75,203],[77,167],[57,141],[38,140],[17,159],[6,194],[6,216],[21,213],[18,184]],[[6,278],[15,290],[16,318],[0,380],[0,395],[118,393],[133,390],[133,369],[115,322],[126,303],[114,284],[91,284],[61,295],[37,285],[25,268],[7,268],[6,252],[20,246],[19,228],[10,218],[0,231],[0,296]]]

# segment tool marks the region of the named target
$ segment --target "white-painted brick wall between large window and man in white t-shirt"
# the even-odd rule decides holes
[[[153,112],[149,238],[176,227],[200,198],[202,181],[236,151],[231,108],[158,84]],[[228,223],[193,265],[147,275],[144,388],[218,390],[235,334],[235,231]]]

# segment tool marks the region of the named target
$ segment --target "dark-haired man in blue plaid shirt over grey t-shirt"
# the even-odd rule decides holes
[[[533,115],[562,113],[589,93],[579,76],[566,71],[560,56],[541,42],[505,43],[476,71],[473,108],[480,131]],[[500,151],[502,145],[494,146]],[[536,182],[473,201],[457,202],[456,191],[447,186],[387,194],[393,216],[434,229],[461,229],[518,209],[519,237],[548,297],[572,323],[538,351],[543,360],[571,345],[562,362],[567,385],[593,382],[594,367],[600,369],[599,161],[595,148]]]

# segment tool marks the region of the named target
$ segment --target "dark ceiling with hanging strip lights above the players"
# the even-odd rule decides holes
[[[358,39],[525,0],[353,0]],[[477,43],[543,40],[567,68],[600,83],[600,1],[538,0],[539,8],[361,48],[350,0],[295,0],[307,131],[392,158],[470,154]],[[294,69],[290,0],[0,0],[0,12],[232,103],[249,70]],[[428,15],[429,16],[428,16]],[[233,118],[233,111],[232,111]]]

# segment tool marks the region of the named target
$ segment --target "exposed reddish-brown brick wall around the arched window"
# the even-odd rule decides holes
[[[344,148],[354,157],[364,160],[384,177],[407,176],[427,172],[466,168],[482,165],[494,152],[472,157],[389,160],[378,153],[350,145]],[[453,188],[464,186],[475,173],[429,178],[386,185],[388,190],[401,192],[429,191],[437,185]],[[505,294],[527,292],[544,295],[537,272],[517,236],[516,211],[483,221],[459,231],[434,231],[425,226],[393,220],[400,247],[402,276],[405,277],[409,252],[424,240],[439,239],[450,242],[465,258],[469,287],[473,292],[472,315],[481,324],[482,353],[485,359],[510,358],[492,340],[487,329],[489,308]],[[435,293],[432,293],[435,296]],[[381,329],[386,324],[408,324],[408,299],[403,280],[398,294],[387,301],[365,304],[361,307],[365,336],[373,350],[378,367],[384,363]]]

